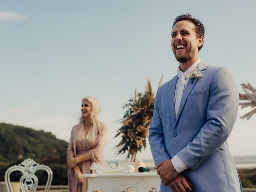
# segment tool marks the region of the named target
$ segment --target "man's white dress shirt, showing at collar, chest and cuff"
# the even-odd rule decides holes
[[[192,71],[192,69],[196,68],[198,66],[198,64],[200,63],[201,59],[199,58],[194,64],[192,64],[192,66],[190,66],[190,68],[188,68],[184,74],[186,76],[186,80],[185,80],[185,86],[184,86],[184,89],[186,88],[186,85],[188,84],[188,74]],[[179,73],[183,73],[181,70],[180,70],[180,66],[178,66],[178,70],[177,70],[177,74]],[[180,84],[180,79],[178,79],[177,83],[176,83],[176,88],[175,88],[175,95],[174,95],[174,104],[176,102],[176,96],[177,96],[177,89],[178,89],[178,86]],[[178,173],[181,173],[182,171],[184,171],[185,169],[188,168],[188,166],[178,157],[178,155],[175,155],[173,158],[172,158],[172,164],[174,166],[174,168],[176,169],[176,171]]]

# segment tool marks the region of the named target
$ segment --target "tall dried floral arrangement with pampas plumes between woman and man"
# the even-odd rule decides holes
[[[162,78],[163,76],[158,87],[162,83]],[[138,93],[135,90],[134,98],[128,100],[128,103],[123,107],[127,110],[121,121],[122,127],[118,129],[114,138],[121,137],[121,141],[116,146],[116,148],[119,148],[118,154],[124,154],[128,151],[127,159],[132,155],[132,162],[135,162],[137,152],[146,148],[146,137],[154,112],[154,101],[155,94],[152,92],[151,81],[148,79],[145,93]]]

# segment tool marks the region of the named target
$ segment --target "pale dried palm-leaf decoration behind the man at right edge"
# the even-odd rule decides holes
[[[240,100],[246,100],[248,102],[242,102],[239,103],[239,105],[241,105],[241,108],[251,106],[252,110],[240,118],[247,118],[248,120],[252,117],[254,113],[256,114],[256,89],[254,89],[250,83],[248,83],[247,85],[243,83],[241,85],[245,94],[239,93]]]

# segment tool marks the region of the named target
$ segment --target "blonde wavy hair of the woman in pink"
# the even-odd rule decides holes
[[[98,116],[100,114],[101,108],[100,108],[100,102],[98,101],[98,99],[94,98],[94,97],[85,97],[82,99],[82,102],[84,100],[87,100],[90,105],[92,106],[92,112],[90,114],[90,118],[92,123],[96,123],[98,121]],[[82,122],[84,119],[81,116],[80,117],[80,122]]]

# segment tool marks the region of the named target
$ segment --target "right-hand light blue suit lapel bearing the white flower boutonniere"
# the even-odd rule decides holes
[[[203,74],[206,67],[207,67],[207,65],[203,61],[201,61],[196,68],[197,68],[198,71],[200,71]],[[177,114],[177,117],[176,117],[176,120],[175,120],[174,127],[176,126],[176,123],[178,122],[178,119],[179,119],[180,114],[182,112],[182,109],[183,109],[183,107],[186,103],[188,95],[190,94],[192,88],[194,87],[194,85],[196,84],[197,81],[198,81],[198,78],[194,79],[194,81],[193,81],[193,79],[188,80],[188,83],[186,85],[186,88],[184,89],[184,92],[183,92],[183,95],[182,95],[182,98],[181,98],[181,101],[180,101],[180,107],[179,107],[179,110],[178,110],[178,114]]]

